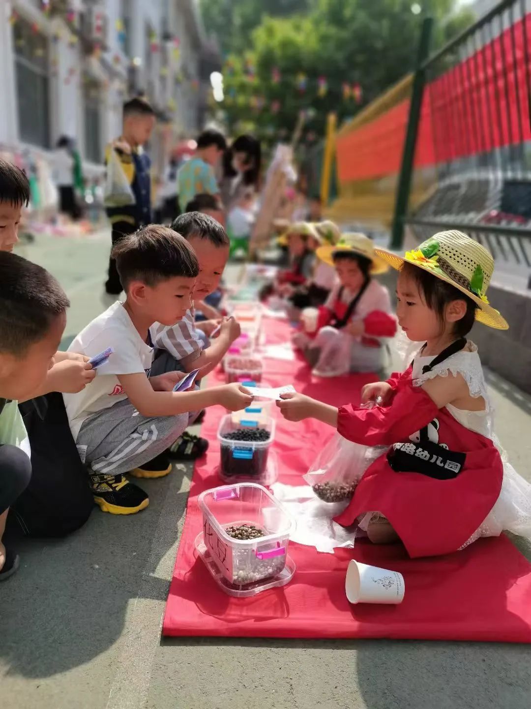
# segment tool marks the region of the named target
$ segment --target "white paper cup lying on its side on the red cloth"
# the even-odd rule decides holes
[[[353,559],[348,564],[345,592],[350,603],[401,603],[404,576],[398,571],[367,566]]]

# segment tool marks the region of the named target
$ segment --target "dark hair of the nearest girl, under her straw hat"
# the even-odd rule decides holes
[[[476,318],[476,303],[467,295],[459,291],[451,284],[437,278],[429,271],[413,266],[413,264],[404,263],[401,267],[408,278],[411,278],[418,287],[418,291],[426,301],[426,305],[430,310],[433,310],[440,320],[444,323],[445,307],[452,301],[464,301],[467,304],[467,311],[461,320],[454,323],[454,333],[459,337],[466,337]]]

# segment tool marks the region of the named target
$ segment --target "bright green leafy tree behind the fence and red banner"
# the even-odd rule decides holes
[[[249,10],[253,4],[241,0],[235,6]],[[452,13],[454,4],[423,1],[423,12],[435,18],[433,49],[471,21],[469,13]],[[249,50],[232,52],[225,62],[229,127],[253,128],[264,140],[275,140],[280,131],[291,133],[299,112],[307,111],[307,135],[320,137],[329,111],[340,121],[353,116],[413,69],[422,19],[411,12],[411,0],[316,0],[306,14],[265,16]],[[321,94],[319,77],[326,77]],[[350,91],[358,85],[361,100]]]

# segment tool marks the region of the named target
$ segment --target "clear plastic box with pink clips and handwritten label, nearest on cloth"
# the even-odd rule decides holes
[[[205,552],[228,584],[232,587],[236,584],[237,588],[273,579],[279,574],[282,578],[295,521],[265,488],[254,483],[224,485],[202,492],[198,505],[202,512]],[[259,530],[262,536],[235,539],[226,531],[242,529],[245,536],[245,530],[250,527]],[[207,563],[205,555],[202,557]],[[292,571],[289,579],[291,576]],[[258,584],[258,590],[252,593],[274,585],[282,585],[282,581]]]

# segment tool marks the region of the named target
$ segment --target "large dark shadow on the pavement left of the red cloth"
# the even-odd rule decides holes
[[[8,676],[67,671],[105,653],[120,638],[128,603],[137,598],[143,574],[154,574],[160,560],[151,559],[154,568],[147,566],[166,496],[171,495],[176,515],[184,512],[188,492],[178,492],[182,481],[178,470],[142,481],[150,504],[137,515],[104,514],[95,506],[86,525],[70,537],[16,541],[21,568],[2,584],[0,596],[0,657]],[[176,528],[173,517],[168,523]],[[159,542],[157,556],[167,550]],[[165,601],[168,582],[156,582],[149,586],[150,598]],[[103,675],[115,671],[110,661],[102,670]]]

